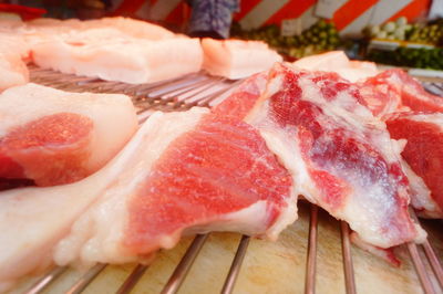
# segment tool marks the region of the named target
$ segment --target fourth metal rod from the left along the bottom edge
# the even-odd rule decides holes
[[[162,294],[172,294],[177,292],[207,238],[208,234],[197,234],[190,246],[187,249],[185,255],[177,264],[177,267],[175,267],[174,273],[171,275],[163,288]]]

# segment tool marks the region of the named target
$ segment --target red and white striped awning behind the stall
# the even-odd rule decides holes
[[[114,14],[181,23],[188,17],[185,6],[181,0],[115,0]],[[299,19],[305,29],[323,17],[333,20],[342,34],[358,34],[368,24],[423,17],[430,6],[431,0],[241,0],[235,20],[245,29],[254,29]]]

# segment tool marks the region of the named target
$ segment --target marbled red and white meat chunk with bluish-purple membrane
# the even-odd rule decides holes
[[[276,65],[254,76],[214,111],[243,117],[291,172],[298,193],[347,221],[365,243],[390,248],[425,233],[409,216],[400,145],[363,105],[359,90],[334,73]],[[253,91],[250,91],[253,90]],[[251,105],[249,112],[224,104]],[[239,111],[240,109],[240,111]]]

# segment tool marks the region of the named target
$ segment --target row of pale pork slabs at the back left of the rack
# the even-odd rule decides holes
[[[0,91],[28,82],[24,62],[68,74],[143,84],[202,70],[240,78],[282,60],[264,42],[205,39],[200,44],[199,39],[126,18],[3,22]]]

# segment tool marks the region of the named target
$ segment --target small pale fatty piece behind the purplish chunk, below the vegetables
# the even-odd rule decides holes
[[[292,65],[300,70],[334,72],[350,82],[357,82],[378,74],[373,62],[350,61],[342,51],[331,51],[302,57],[293,62]]]

